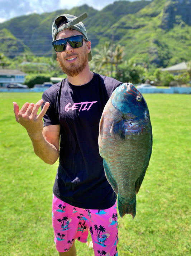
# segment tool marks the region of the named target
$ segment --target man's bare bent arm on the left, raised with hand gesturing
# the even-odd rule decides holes
[[[60,125],[49,125],[43,128],[42,118],[47,112],[49,103],[46,102],[42,111],[37,114],[42,103],[43,100],[39,100],[36,104],[25,103],[19,111],[18,104],[13,102],[15,119],[27,130],[35,154],[44,162],[53,164],[59,157]]]

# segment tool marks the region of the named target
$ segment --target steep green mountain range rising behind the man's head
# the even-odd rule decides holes
[[[51,55],[53,20],[83,12],[93,53],[113,40],[125,46],[125,59],[136,63],[166,67],[191,59],[191,0],[116,1],[100,11],[82,5],[13,18],[0,24],[0,53]]]

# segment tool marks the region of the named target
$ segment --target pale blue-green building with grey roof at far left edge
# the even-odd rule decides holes
[[[0,87],[5,87],[9,83],[23,84],[26,75],[17,69],[0,69]]]

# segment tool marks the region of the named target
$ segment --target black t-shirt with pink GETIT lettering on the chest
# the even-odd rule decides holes
[[[44,91],[50,106],[44,126],[61,125],[59,166],[53,187],[56,197],[72,206],[106,209],[116,194],[108,183],[99,154],[99,121],[111,93],[122,83],[94,73],[92,80],[74,86],[63,79]]]

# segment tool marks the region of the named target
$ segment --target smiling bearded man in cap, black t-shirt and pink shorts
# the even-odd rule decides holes
[[[52,205],[59,255],[76,255],[75,239],[87,242],[89,229],[95,255],[116,256],[116,194],[104,174],[98,135],[104,106],[122,83],[90,71],[91,42],[81,22],[86,17],[63,14],[55,19],[52,44],[67,78],[47,89],[36,104],[25,103],[19,111],[14,102],[14,112],[35,154],[49,164],[59,157]]]

